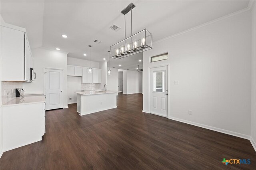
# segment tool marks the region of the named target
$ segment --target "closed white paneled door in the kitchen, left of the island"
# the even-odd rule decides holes
[[[45,69],[46,110],[63,108],[63,70]]]

